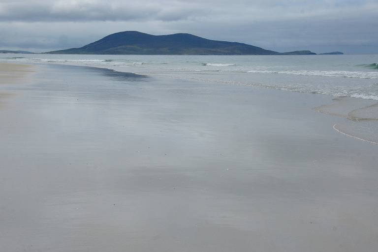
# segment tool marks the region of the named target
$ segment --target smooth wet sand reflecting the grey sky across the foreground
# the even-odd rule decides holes
[[[377,251],[378,146],[328,96],[59,65],[6,90],[0,251]]]

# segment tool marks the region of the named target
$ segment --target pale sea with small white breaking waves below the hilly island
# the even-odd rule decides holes
[[[219,84],[378,100],[378,55],[136,56],[2,54],[0,61],[94,66]]]

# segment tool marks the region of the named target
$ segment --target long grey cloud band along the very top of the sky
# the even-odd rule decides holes
[[[279,21],[333,18],[378,10],[376,1],[340,0],[2,0],[1,21]]]

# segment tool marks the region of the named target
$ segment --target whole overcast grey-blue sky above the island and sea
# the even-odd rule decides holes
[[[378,0],[0,0],[0,49],[81,47],[125,30],[378,54]]]

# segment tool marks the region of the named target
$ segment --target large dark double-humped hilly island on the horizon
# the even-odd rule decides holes
[[[210,40],[189,33],[151,35],[139,31],[122,31],[79,48],[46,54],[99,55],[316,55],[311,51],[279,53],[260,47]]]

